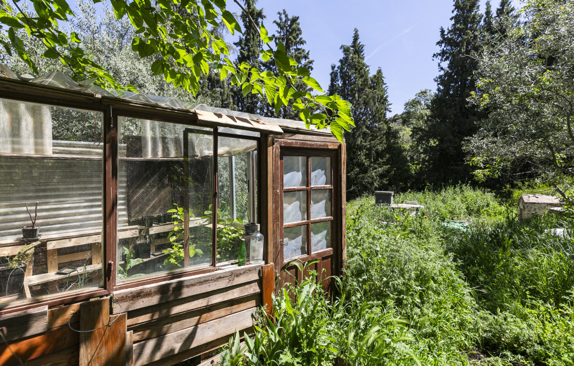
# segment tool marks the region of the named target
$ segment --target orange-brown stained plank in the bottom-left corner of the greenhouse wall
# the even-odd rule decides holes
[[[0,344],[0,365],[20,365],[18,358],[22,361],[33,360],[64,348],[77,348],[78,342],[78,333],[72,332],[67,325],[50,329],[40,336]]]

